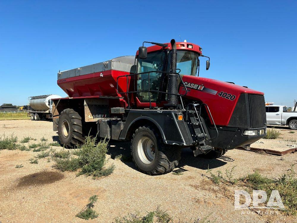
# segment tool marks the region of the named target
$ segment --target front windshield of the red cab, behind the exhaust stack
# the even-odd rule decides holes
[[[198,54],[193,51],[187,50],[178,50],[177,51],[177,59],[176,59],[176,69],[180,69],[181,71],[177,70],[179,74],[183,75],[192,75],[196,76],[197,68],[198,68]],[[170,54],[168,58],[168,66],[167,71],[170,71]]]

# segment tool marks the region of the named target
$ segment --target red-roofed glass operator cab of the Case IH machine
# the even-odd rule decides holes
[[[179,73],[181,77],[183,75],[199,75],[197,71],[199,71],[200,65],[199,56],[203,56],[201,52],[202,48],[198,45],[185,42],[176,43],[176,48],[176,71],[173,72]],[[166,94],[143,91],[148,91],[150,88],[151,91],[167,92],[168,75],[160,73],[160,71],[170,72],[170,51],[170,43],[153,45],[148,48],[140,47],[139,51],[137,51],[137,73],[143,73],[138,75],[136,80],[136,90],[138,91],[136,96],[140,103],[147,103],[150,100],[151,102],[165,102],[167,100]]]

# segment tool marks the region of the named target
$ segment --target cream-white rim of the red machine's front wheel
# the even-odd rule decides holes
[[[151,164],[155,158],[155,145],[149,137],[142,137],[137,145],[137,152],[144,164]]]

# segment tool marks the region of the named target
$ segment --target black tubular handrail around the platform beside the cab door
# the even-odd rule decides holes
[[[168,95],[176,95],[176,96],[185,96],[187,95],[187,88],[185,90],[184,94],[174,94],[174,93],[168,93],[168,92],[164,92],[164,91],[157,91],[157,90],[151,90],[151,86],[150,86],[150,73],[164,73],[164,74],[176,74],[178,75],[179,79],[181,80],[181,83],[184,85],[184,87],[186,88],[186,85],[184,84],[183,79],[181,78],[181,76],[179,75],[179,73],[173,73],[173,72],[167,72],[167,71],[148,71],[148,72],[143,72],[143,73],[132,73],[132,74],[126,74],[126,75],[121,75],[118,76],[116,78],[116,92],[119,94],[127,94],[127,98],[128,98],[128,106],[130,107],[130,103],[129,103],[129,93],[140,93],[140,92],[148,92],[149,93],[149,103],[150,103],[150,109],[151,109],[151,98],[150,98],[150,93],[151,92],[157,92],[157,93],[161,93],[161,94],[168,94]],[[148,81],[149,81],[149,89],[148,90],[142,90],[142,91],[128,91],[128,87],[129,87],[129,81],[128,81],[128,76],[135,76],[135,75],[140,75],[140,74],[148,74]],[[126,92],[119,92],[119,78],[121,77],[126,77],[127,78],[127,91]]]

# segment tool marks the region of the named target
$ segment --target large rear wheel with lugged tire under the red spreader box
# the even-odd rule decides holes
[[[61,145],[71,149],[84,143],[80,115],[73,109],[64,109],[59,116],[58,135]]]

